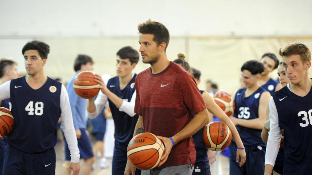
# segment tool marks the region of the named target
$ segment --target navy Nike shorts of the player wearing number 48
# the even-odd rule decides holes
[[[3,164],[3,174],[55,175],[55,162],[56,156],[54,148],[41,153],[29,154],[8,144]]]

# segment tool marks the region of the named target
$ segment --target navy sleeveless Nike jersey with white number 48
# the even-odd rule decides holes
[[[7,142],[26,153],[40,153],[56,145],[56,126],[61,115],[61,83],[47,78],[37,90],[25,76],[11,80],[10,96],[15,128]]]

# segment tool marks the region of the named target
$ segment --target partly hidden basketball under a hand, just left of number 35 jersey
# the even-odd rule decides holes
[[[222,95],[221,97],[213,97],[213,98],[217,103],[217,105],[220,106],[221,109],[227,114],[227,116],[232,116],[235,109],[235,103],[228,93]]]

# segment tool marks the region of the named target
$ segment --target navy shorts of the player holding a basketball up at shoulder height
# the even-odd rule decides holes
[[[124,174],[126,168],[128,156],[127,156],[127,147],[115,140],[114,154],[113,154],[113,163],[112,163],[112,175]],[[135,175],[141,175],[140,169],[135,169]]]

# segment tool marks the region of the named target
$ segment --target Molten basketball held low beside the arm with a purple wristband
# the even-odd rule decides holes
[[[219,121],[211,122],[205,126],[202,135],[205,146],[213,151],[221,151],[227,148],[232,140],[229,127]]]

